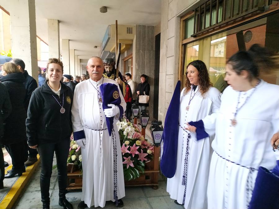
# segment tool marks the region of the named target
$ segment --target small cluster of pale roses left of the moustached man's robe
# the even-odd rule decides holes
[[[82,155],[81,148],[76,141],[73,140],[73,134],[71,135],[70,150],[67,163],[73,163],[78,166],[78,169],[82,171]]]

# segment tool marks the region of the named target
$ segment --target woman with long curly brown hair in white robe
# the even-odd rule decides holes
[[[188,64],[187,78],[186,86],[191,89],[187,91],[185,87],[180,94],[177,165],[174,177],[167,180],[167,192],[175,203],[184,204],[185,208],[205,208],[211,141],[209,137],[197,141],[184,127],[189,121],[200,120],[218,111],[220,92],[211,87],[206,65],[200,60]],[[205,79],[205,82],[200,82],[200,79]],[[207,91],[202,94],[205,86]]]

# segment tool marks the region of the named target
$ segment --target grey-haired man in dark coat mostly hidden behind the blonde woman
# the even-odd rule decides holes
[[[15,59],[12,59],[10,62],[15,63],[17,65],[18,69],[20,70],[20,72],[22,72],[24,75],[25,81],[23,84],[26,89],[24,107],[27,112],[32,92],[38,87],[37,82],[32,76],[28,75],[28,72],[25,70],[25,63],[23,62],[22,59],[15,58]],[[27,143],[26,143],[26,150],[28,150],[29,156],[26,156],[24,165],[25,166],[33,165],[38,160],[37,159],[38,152],[37,152],[37,150],[29,148]]]

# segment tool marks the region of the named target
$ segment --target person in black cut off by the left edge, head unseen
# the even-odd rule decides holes
[[[11,113],[11,101],[7,88],[0,83],[0,141],[4,135],[4,121]],[[2,112],[2,113],[1,113]],[[4,156],[0,147],[0,189],[4,188],[3,180],[5,176]]]

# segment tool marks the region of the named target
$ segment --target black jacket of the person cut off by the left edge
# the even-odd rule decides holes
[[[0,138],[4,134],[3,123],[11,113],[10,95],[6,86],[0,83]],[[1,147],[0,147],[1,149]]]

